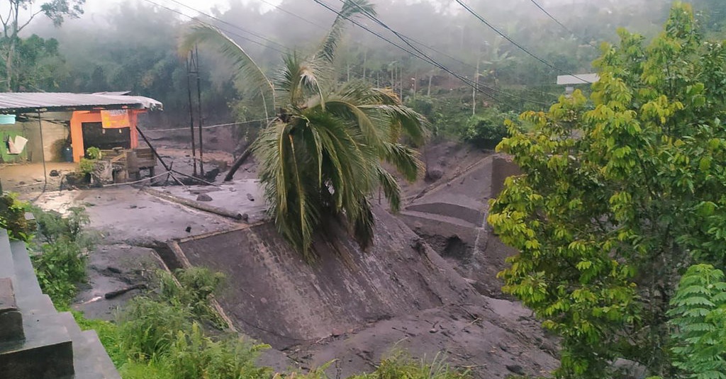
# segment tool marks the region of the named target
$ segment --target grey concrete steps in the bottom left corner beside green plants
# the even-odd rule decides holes
[[[3,275],[12,282],[4,285],[12,299],[0,300],[0,311],[6,303],[5,309],[15,306],[25,338],[0,341],[2,379],[121,379],[98,335],[82,331],[73,314],[58,313],[41,292],[25,243],[9,241],[0,229],[0,278]],[[3,283],[0,280],[0,286]]]

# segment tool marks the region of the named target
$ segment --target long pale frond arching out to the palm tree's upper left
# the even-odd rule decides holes
[[[272,101],[272,109],[276,108],[274,86],[262,69],[250,57],[242,46],[227,34],[207,24],[197,24],[186,33],[179,43],[179,54],[187,54],[197,44],[211,44],[219,49],[224,57],[237,68],[235,76],[247,82],[250,94],[259,95],[265,103],[265,114],[269,115],[267,102]],[[267,117],[269,119],[269,116]]]

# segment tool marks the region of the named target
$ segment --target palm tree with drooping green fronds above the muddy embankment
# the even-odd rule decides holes
[[[285,54],[273,78],[209,25],[197,26],[182,46],[215,44],[256,89],[266,113],[274,112],[250,151],[260,165],[269,216],[308,259],[314,258],[314,231],[330,218],[346,220],[363,249],[372,243],[370,195],[378,188],[391,210],[399,210],[399,184],[382,162],[409,181],[422,171],[417,152],[399,141],[404,136],[415,144],[424,141],[423,116],[402,105],[391,89],[335,81],[333,60],[346,20],[362,12],[374,14],[367,0],[346,0],[319,50],[309,56]]]

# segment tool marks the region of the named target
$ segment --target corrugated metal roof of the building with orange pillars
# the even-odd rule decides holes
[[[142,96],[110,94],[72,94],[68,92],[1,92],[0,113],[23,113],[37,110],[161,109],[155,99]]]

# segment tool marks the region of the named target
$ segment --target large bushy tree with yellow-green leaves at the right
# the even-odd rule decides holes
[[[590,102],[576,91],[521,115],[499,150],[507,179],[489,222],[519,250],[500,273],[562,336],[560,378],[608,378],[613,359],[671,378],[666,312],[693,262],[725,266],[726,46],[690,6],[662,33],[619,30]]]

